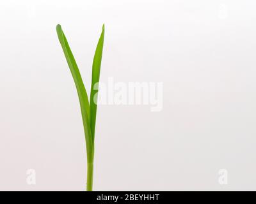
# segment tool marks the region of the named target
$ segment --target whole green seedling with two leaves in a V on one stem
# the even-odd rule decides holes
[[[64,55],[67,59],[68,67],[71,71],[72,77],[76,85],[76,90],[79,98],[84,135],[86,142],[86,154],[87,154],[87,183],[86,191],[92,191],[93,186],[93,159],[94,159],[94,136],[95,136],[95,122],[97,113],[97,92],[95,89],[99,83],[100,78],[100,64],[102,59],[102,49],[104,43],[104,25],[102,26],[102,33],[100,34],[99,42],[95,50],[95,55],[92,64],[92,84],[90,92],[90,103],[88,95],[83,84],[79,69],[77,67],[74,55],[72,54],[68,45],[67,38],[61,29],[61,25],[56,27],[58,38],[60,40],[61,47]]]

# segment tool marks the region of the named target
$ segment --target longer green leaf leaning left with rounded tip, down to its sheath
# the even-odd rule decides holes
[[[86,89],[83,84],[83,80],[81,78],[79,69],[77,67],[76,61],[74,59],[74,55],[72,54],[70,47],[67,42],[67,38],[61,29],[61,25],[57,25],[56,31],[58,34],[58,38],[60,40],[61,47],[65,54],[65,57],[68,62],[68,67],[72,73],[72,77],[74,78],[74,82],[76,84],[77,94],[79,97],[79,103],[82,113],[83,126],[84,126],[84,135],[86,140],[86,152],[88,163],[93,162],[93,140],[92,140],[92,132],[90,128],[90,106],[88,101],[88,95],[86,93]]]

